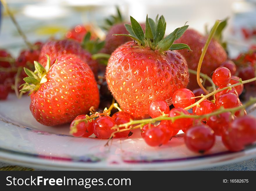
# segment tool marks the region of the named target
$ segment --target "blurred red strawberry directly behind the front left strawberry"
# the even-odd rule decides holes
[[[84,50],[79,42],[73,40],[65,39],[48,41],[42,47],[38,62],[42,63],[42,66],[46,66],[47,58],[45,55],[49,55],[51,65],[53,65],[58,56],[65,54],[77,55],[83,62],[86,62],[90,66],[90,68],[93,70],[94,75],[97,76],[97,61],[92,59],[92,55]]]

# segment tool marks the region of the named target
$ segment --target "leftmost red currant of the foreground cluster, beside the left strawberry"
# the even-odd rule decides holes
[[[79,115],[77,116],[70,124],[70,130],[72,131],[72,129],[74,128],[74,123],[75,120],[78,119],[85,119],[86,115]],[[89,137],[90,135],[93,134],[93,121],[88,121],[87,123],[82,121],[80,123],[77,124],[76,126],[76,132],[72,132],[72,135],[74,137]]]

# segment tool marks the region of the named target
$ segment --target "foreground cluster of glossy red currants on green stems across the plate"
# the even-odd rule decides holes
[[[210,94],[203,95],[202,89],[178,89],[172,97],[175,108],[170,110],[165,101],[151,103],[148,113],[152,119],[135,121],[123,111],[110,117],[110,110],[91,116],[80,115],[71,123],[70,132],[76,137],[94,133],[100,139],[109,139],[129,137],[132,129],[140,128],[141,137],[148,145],[160,146],[182,130],[186,146],[194,152],[204,153],[211,149],[215,136],[221,136],[229,150],[243,150],[244,146],[256,141],[256,119],[246,115],[240,102],[238,96],[243,91],[240,80],[222,66],[212,74],[212,82],[218,88]],[[208,100],[211,96],[213,100]]]

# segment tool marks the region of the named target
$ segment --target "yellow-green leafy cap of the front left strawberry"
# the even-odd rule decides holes
[[[21,93],[30,92],[30,95],[32,92],[37,91],[42,83],[45,83],[47,81],[46,74],[50,69],[50,57],[48,55],[46,55],[46,57],[47,63],[45,68],[37,61],[34,61],[34,72],[24,67],[24,71],[28,75],[28,77],[23,78],[26,83],[20,86],[22,87],[22,89],[20,90]]]

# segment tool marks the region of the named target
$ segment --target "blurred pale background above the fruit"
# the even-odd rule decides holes
[[[186,22],[191,28],[204,33],[216,19],[229,17],[224,39],[230,42],[232,54],[255,43],[256,0],[6,0],[29,41],[45,41],[49,37],[63,38],[70,28],[92,23],[104,26],[104,19],[116,13],[115,6],[129,21],[129,15],[139,22],[146,14],[155,18],[163,14],[170,33]],[[16,54],[24,46],[15,26],[1,7],[0,48]],[[102,33],[104,35],[104,33]],[[229,48],[230,48],[229,47]],[[232,56],[232,55],[231,55]]]

